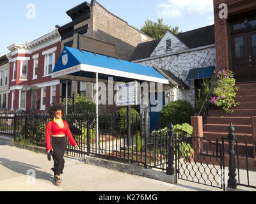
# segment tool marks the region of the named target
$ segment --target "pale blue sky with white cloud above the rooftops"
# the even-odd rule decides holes
[[[213,0],[98,0],[111,13],[140,29],[145,20],[179,26],[180,31],[189,31],[213,24]],[[0,56],[10,52],[13,43],[26,43],[40,38],[71,21],[67,10],[84,0],[9,0],[0,1]],[[87,1],[90,3],[90,0]],[[35,18],[28,18],[35,5]]]

